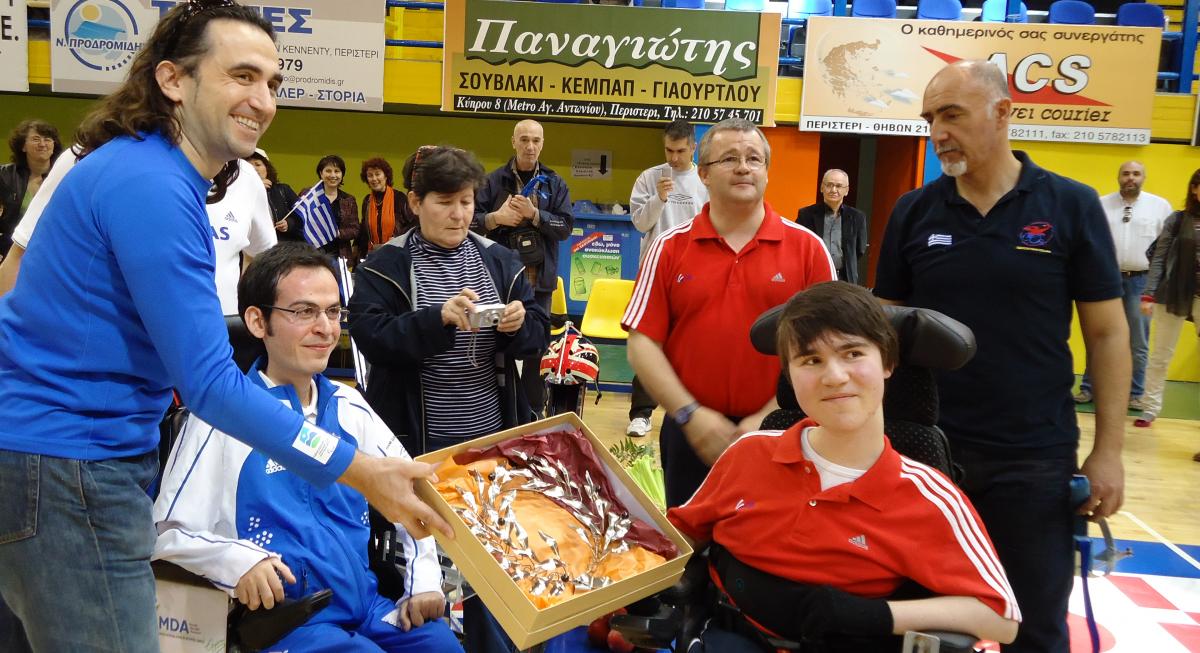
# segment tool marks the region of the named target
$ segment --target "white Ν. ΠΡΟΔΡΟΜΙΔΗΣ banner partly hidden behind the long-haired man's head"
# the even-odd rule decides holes
[[[5,2],[7,0],[0,0]],[[55,92],[104,95],[175,0],[52,0]],[[251,5],[274,28],[283,107],[383,109],[383,2],[289,0]]]

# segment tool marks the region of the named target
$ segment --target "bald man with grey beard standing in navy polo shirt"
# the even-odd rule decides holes
[[[979,353],[938,377],[941,426],[1026,617],[1003,651],[1066,653],[1079,447],[1072,304],[1096,370],[1096,444],[1080,469],[1092,485],[1081,511],[1094,517],[1123,501],[1129,335],[1096,191],[1013,151],[1012,108],[990,62],[960,61],[930,80],[922,116],[943,176],[896,203],[875,294],[974,330]]]

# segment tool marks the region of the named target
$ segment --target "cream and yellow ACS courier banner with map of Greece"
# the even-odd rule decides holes
[[[922,97],[960,59],[1008,73],[1015,140],[1148,144],[1163,30],[816,17],[800,130],[928,136]]]

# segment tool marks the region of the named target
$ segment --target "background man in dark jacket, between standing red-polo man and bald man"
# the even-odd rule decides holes
[[[863,286],[858,274],[858,259],[866,253],[866,214],[846,204],[850,193],[850,175],[833,168],[821,178],[821,198],[811,206],[796,214],[796,222],[821,235],[838,278]]]

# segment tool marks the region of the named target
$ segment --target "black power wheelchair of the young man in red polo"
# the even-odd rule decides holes
[[[887,381],[883,413],[884,431],[892,447],[900,454],[958,480],[959,471],[950,460],[946,435],[936,426],[938,417],[935,370],[956,370],[976,352],[974,335],[966,325],[936,311],[887,306],[886,312],[895,328],[900,345],[900,364]],[[755,322],[750,339],[764,354],[775,354],[775,331],[782,306],[767,311]],[[784,430],[800,419],[804,412],[796,401],[786,372],[780,375],[776,397],[780,408],[763,420],[764,430]],[[709,651],[726,651],[731,642],[746,649],[841,652],[841,651],[916,651],[967,653],[974,651],[976,637],[956,633],[910,633],[900,637],[864,641],[844,637],[838,642],[812,645],[774,637],[754,627],[724,593],[709,580],[709,565],[715,557],[712,547],[697,552],[689,561],[679,583],[649,599],[630,606],[628,615],[611,619],[612,629],[631,643],[648,648],[672,648],[697,653],[704,651],[702,635],[715,633],[725,643],[710,642]],[[894,598],[929,595],[923,588],[901,587]],[[731,640],[730,637],[733,637]],[[884,641],[886,640],[886,641]],[[672,647],[672,641],[674,646]]]

